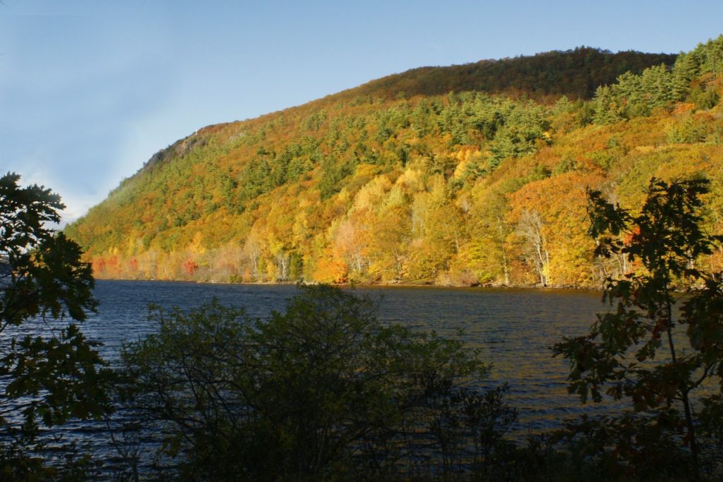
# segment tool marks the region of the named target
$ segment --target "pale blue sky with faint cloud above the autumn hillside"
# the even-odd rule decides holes
[[[64,220],[196,129],[418,66],[594,46],[688,51],[723,1],[3,0],[0,173]]]

